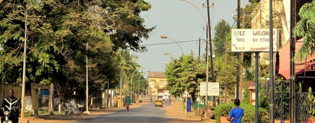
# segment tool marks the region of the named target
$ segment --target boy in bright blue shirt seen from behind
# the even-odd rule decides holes
[[[239,107],[241,104],[239,99],[234,99],[235,107],[231,110],[230,115],[226,118],[226,120],[231,121],[231,123],[241,123],[242,117],[244,115],[244,110]]]

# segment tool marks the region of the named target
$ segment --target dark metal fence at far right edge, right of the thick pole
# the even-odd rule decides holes
[[[308,123],[315,117],[315,93],[296,93],[296,123]]]

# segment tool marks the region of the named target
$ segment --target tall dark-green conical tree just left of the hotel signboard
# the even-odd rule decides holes
[[[225,52],[225,36],[230,32],[231,26],[224,19],[221,19],[218,24],[215,25],[215,35],[212,39],[212,44],[215,49],[215,56],[222,56]]]

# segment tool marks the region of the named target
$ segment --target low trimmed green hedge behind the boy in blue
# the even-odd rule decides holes
[[[242,123],[255,123],[255,106],[249,104],[241,104],[240,106],[244,110],[244,116],[242,118]],[[230,111],[234,108],[233,103],[220,104],[215,108],[215,121],[220,123],[221,116],[227,116]],[[269,122],[269,111],[263,108],[259,108],[259,123]]]

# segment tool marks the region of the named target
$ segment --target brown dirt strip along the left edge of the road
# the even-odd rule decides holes
[[[148,104],[149,102],[143,102],[138,105],[133,104],[132,108],[140,107],[141,105]],[[89,117],[97,117],[98,115],[114,113],[118,110],[125,110],[125,108],[112,108],[111,110],[95,110],[89,109],[91,115],[81,114],[81,115],[37,115],[37,117],[27,117],[24,120],[19,121],[19,123],[74,123],[76,121],[84,120]]]

